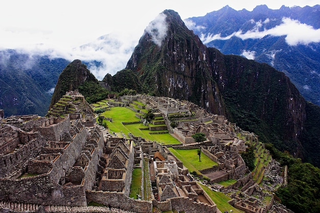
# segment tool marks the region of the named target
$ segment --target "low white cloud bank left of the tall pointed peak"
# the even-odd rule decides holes
[[[110,33],[74,48],[63,45],[37,44],[24,46],[24,48],[17,47],[15,51],[29,56],[23,68],[32,67],[34,56],[48,56],[50,59],[63,58],[69,61],[79,59],[82,62],[88,62],[87,67],[90,72],[98,80],[102,80],[106,74],[113,76],[126,67],[137,44],[138,39],[129,34]],[[0,63],[5,65],[6,60],[10,58],[10,53],[1,51],[0,54]],[[97,66],[94,61],[99,62],[99,65]]]

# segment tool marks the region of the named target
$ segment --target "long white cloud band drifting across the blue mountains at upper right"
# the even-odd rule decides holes
[[[253,21],[253,20],[251,20]],[[236,36],[245,39],[260,39],[266,35],[270,36],[286,36],[285,40],[288,45],[298,45],[298,44],[309,44],[311,42],[320,42],[320,29],[314,29],[312,26],[301,23],[298,20],[291,18],[282,18],[282,23],[271,29],[263,29],[263,24],[268,23],[270,20],[265,19],[264,21],[256,22],[256,25],[252,30],[243,33],[241,30],[234,32],[226,37],[221,37],[221,34],[208,34],[200,35],[200,39],[203,43],[209,43],[213,40],[227,40],[232,36]]]

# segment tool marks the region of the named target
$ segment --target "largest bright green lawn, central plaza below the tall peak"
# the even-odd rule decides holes
[[[118,136],[122,136],[122,133],[128,136],[128,133],[132,133],[134,136],[141,136],[146,140],[157,141],[159,143],[168,144],[181,144],[180,141],[175,139],[169,133],[166,134],[149,134],[149,130],[140,130],[139,128],[146,128],[142,123],[123,125],[121,122],[136,122],[140,121],[138,117],[135,117],[135,112],[126,107],[111,107],[110,110],[102,113],[105,117],[111,117],[112,122],[106,121],[108,128],[111,132],[117,133]]]

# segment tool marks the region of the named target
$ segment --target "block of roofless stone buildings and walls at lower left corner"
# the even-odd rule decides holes
[[[0,156],[0,200],[40,205],[86,205],[92,189],[103,137],[70,119],[41,118],[33,129],[4,125]],[[6,148],[5,148],[6,147]]]

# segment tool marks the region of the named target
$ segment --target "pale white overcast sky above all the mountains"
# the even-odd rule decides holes
[[[270,9],[314,6],[320,0],[10,0],[0,12],[0,50],[16,49],[31,54],[49,54],[70,61],[101,60],[103,67],[90,67],[101,80],[125,68],[133,48],[149,23],[166,9],[182,20],[204,16],[228,5],[252,11],[258,5]],[[319,36],[320,38],[320,36]],[[0,56],[1,57],[1,56]]]

